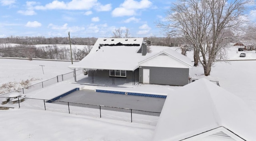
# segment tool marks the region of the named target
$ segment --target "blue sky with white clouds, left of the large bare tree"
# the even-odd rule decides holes
[[[0,0],[0,38],[9,36],[112,37],[126,28],[130,37],[162,37],[174,0]]]

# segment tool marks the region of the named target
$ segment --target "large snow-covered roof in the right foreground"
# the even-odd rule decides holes
[[[254,141],[255,119],[242,99],[202,78],[168,94],[153,141],[200,140],[220,131]]]

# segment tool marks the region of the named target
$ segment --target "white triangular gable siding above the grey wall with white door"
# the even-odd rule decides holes
[[[149,67],[166,67],[166,68],[189,68],[188,65],[184,64],[181,61],[178,61],[166,54],[160,54],[150,60],[142,62],[140,66],[149,66]]]

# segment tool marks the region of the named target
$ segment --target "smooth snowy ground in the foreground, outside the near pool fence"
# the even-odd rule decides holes
[[[1,141],[149,141],[154,127],[50,111],[0,110]]]

